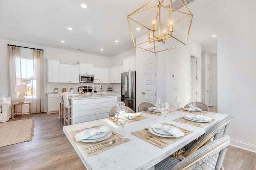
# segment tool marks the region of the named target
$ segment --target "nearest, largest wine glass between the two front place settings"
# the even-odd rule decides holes
[[[124,126],[129,122],[129,113],[128,113],[128,109],[126,108],[122,108],[118,110],[117,113],[117,123],[119,125],[122,126],[123,128],[123,136],[121,138],[118,139],[118,141],[124,143],[126,141],[128,141],[128,139],[126,137],[124,137]]]

